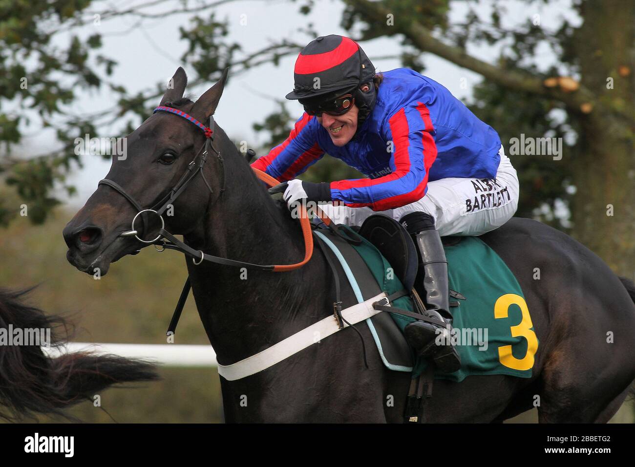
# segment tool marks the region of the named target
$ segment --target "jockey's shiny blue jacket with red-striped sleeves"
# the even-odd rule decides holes
[[[252,166],[283,182],[326,153],[368,177],[331,182],[332,200],[375,211],[420,200],[432,180],[496,176],[500,138],[491,126],[426,76],[408,69],[383,76],[375,108],[347,144],[335,146],[305,113],[283,144]]]

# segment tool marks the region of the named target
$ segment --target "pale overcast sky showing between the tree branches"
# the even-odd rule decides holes
[[[145,3],[145,1],[111,1],[97,2],[91,6],[90,11],[102,11],[109,5],[115,5],[118,9],[129,8],[131,4]],[[464,2],[453,2],[451,18],[457,20],[465,13]],[[481,11],[488,15],[488,3],[483,4]],[[550,6],[537,6],[536,11],[528,10],[526,3],[518,1],[498,2],[498,8],[504,5],[507,9],[508,24],[514,24],[528,18],[533,14],[541,15],[542,25],[545,27],[556,27],[562,15],[568,18],[573,16],[569,2],[563,1]],[[178,6],[175,1],[161,8],[147,9],[152,13],[171,10]],[[298,43],[308,43],[312,37],[304,36],[297,32],[298,27],[312,22],[314,29],[319,35],[346,34],[341,29],[339,21],[343,5],[340,1],[316,0],[316,7],[308,16],[298,13],[298,3],[289,1],[236,1],[218,6],[215,10],[217,18],[228,18],[231,26],[229,40],[238,41],[243,46],[243,51],[250,53],[259,50],[266,44],[281,38],[291,39]],[[241,25],[241,15],[246,15],[245,25]],[[142,27],[137,27],[127,34],[122,34],[135,23],[135,18],[119,17],[107,20],[100,25],[87,25],[73,29],[72,34],[80,37],[88,37],[98,32],[103,36],[104,46],[99,53],[106,57],[115,58],[118,65],[114,69],[114,76],[111,81],[122,83],[130,93],[147,90],[157,83],[157,81],[167,83],[179,65],[180,57],[187,46],[185,41],[180,41],[179,27],[189,27],[193,13],[173,15],[170,18],[157,20],[144,20]],[[395,21],[399,18],[396,17]],[[60,46],[68,44],[69,34],[59,34],[55,41]],[[388,71],[399,67],[398,60],[381,60],[373,57],[398,54],[401,50],[398,38],[377,39],[370,43],[363,44],[364,51],[373,61],[378,71]],[[483,60],[494,60],[498,51],[491,48],[468,48],[472,55],[476,55]],[[299,52],[299,50],[298,50]],[[542,55],[540,55],[542,54]],[[538,50],[538,57],[542,58],[542,65],[546,68],[551,64],[552,57],[548,50]],[[225,87],[224,94],[216,111],[218,125],[224,128],[225,132],[234,140],[246,140],[250,146],[258,146],[258,137],[251,129],[251,125],[262,120],[272,111],[276,110],[276,104],[271,99],[263,97],[283,98],[293,88],[293,64],[295,57],[283,58],[278,67],[267,64],[240,74],[235,79],[231,79],[229,85]],[[427,67],[425,74],[430,78],[439,81],[448,88],[458,98],[469,98],[472,86],[478,83],[481,77],[478,74],[459,68],[456,65],[435,57],[431,54],[424,55],[424,62]],[[185,71],[193,78],[194,71],[184,66]],[[467,88],[462,88],[461,78],[465,78]],[[208,83],[199,88],[187,88],[186,93],[194,93],[196,97],[201,95],[213,83]],[[256,90],[255,93],[253,90]],[[69,108],[70,112],[84,114],[95,112],[100,109],[109,109],[114,105],[114,95],[107,88],[98,92],[82,92],[80,98]],[[157,102],[158,104],[158,102]],[[297,102],[291,102],[289,108],[297,112],[299,117],[302,107]],[[119,134],[121,127],[114,125],[112,128],[104,128],[103,134],[111,136],[122,136]],[[27,133],[34,134],[28,131]],[[45,133],[44,136],[29,137],[25,140],[25,148],[33,154],[48,151],[47,146],[55,144],[52,134]],[[69,201],[73,205],[83,205],[84,201],[95,191],[98,180],[102,179],[109,170],[110,163],[97,156],[84,158],[84,168],[78,170],[70,177],[70,182],[77,186],[79,194],[73,196]]]

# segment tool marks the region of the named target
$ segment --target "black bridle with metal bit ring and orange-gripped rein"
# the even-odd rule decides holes
[[[177,184],[175,184],[175,186],[170,189],[168,194],[163,196],[163,198],[161,198],[156,203],[154,203],[154,205],[152,205],[152,207],[150,208],[144,208],[140,203],[138,203],[137,200],[135,200],[133,196],[127,193],[123,187],[117,184],[117,182],[114,182],[113,180],[109,180],[109,179],[100,180],[98,185],[107,185],[111,187],[112,189],[117,191],[117,193],[121,194],[121,196],[126,198],[126,200],[128,200],[128,202],[130,202],[130,204],[133,205],[134,208],[137,210],[137,214],[135,215],[135,217],[133,218],[131,222],[130,230],[119,234],[119,236],[135,237],[137,238],[138,241],[142,243],[154,244],[155,246],[158,245],[162,249],[159,250],[159,248],[157,248],[157,251],[163,251],[166,248],[170,250],[180,251],[184,253],[185,255],[192,257],[192,262],[196,265],[201,264],[201,262],[203,261],[210,261],[217,264],[225,264],[227,266],[239,266],[239,267],[246,267],[247,269],[261,269],[264,271],[283,272],[283,271],[291,271],[293,269],[298,269],[298,267],[304,266],[304,264],[306,264],[311,259],[311,256],[313,253],[313,237],[311,234],[311,224],[309,222],[309,217],[304,207],[300,208],[300,224],[302,225],[302,233],[304,235],[305,256],[303,261],[295,263],[295,264],[283,264],[283,265],[253,264],[250,262],[237,261],[234,259],[227,259],[227,258],[209,255],[204,253],[201,250],[194,250],[194,248],[178,240],[178,238],[173,236],[170,232],[166,231],[165,222],[163,220],[163,213],[166,211],[166,209],[168,209],[168,206],[172,205],[172,203],[175,200],[177,200],[178,196],[180,196],[180,194],[182,194],[185,191],[188,184],[192,180],[194,180],[194,177],[196,177],[196,175],[198,175],[199,173],[201,174],[201,177],[203,177],[203,180],[206,186],[210,190],[210,193],[213,193],[213,190],[211,189],[210,184],[205,179],[205,176],[203,173],[203,167],[210,153],[213,152],[216,154],[217,159],[222,168],[221,172],[222,172],[223,182],[221,185],[220,194],[222,194],[225,191],[225,165],[224,165],[224,160],[220,154],[220,151],[217,151],[217,149],[215,149],[215,147],[213,146],[214,129],[215,129],[215,121],[213,116],[210,116],[210,126],[205,126],[203,125],[203,123],[199,122],[196,118],[192,117],[191,115],[183,111],[180,111],[178,109],[174,109],[173,107],[160,106],[154,109],[153,113],[156,113],[156,112],[169,112],[171,114],[175,114],[182,118],[187,119],[187,121],[196,125],[197,128],[203,131],[206,137],[206,141],[201,151],[197,152],[196,156],[194,156],[194,159],[192,159],[192,161],[189,163],[189,165],[187,166],[187,171],[178,180]],[[198,159],[198,162],[197,162],[197,159]],[[263,180],[265,183],[269,184],[269,186],[273,186],[274,184],[277,184],[277,180],[273,179],[272,177],[269,177],[269,175],[267,175],[266,173],[260,172],[260,170],[257,170],[257,169],[253,169],[253,170],[256,172],[256,175],[258,176],[258,178],[260,180]],[[139,215],[141,215],[144,212],[154,213],[159,217],[159,220],[161,220],[161,229],[159,229],[157,236],[153,238],[152,240],[143,240],[142,238],[139,237],[139,231],[135,229],[135,222],[137,221],[137,217],[139,217]],[[166,239],[167,241],[163,239]]]

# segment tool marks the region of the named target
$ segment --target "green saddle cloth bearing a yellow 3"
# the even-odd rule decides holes
[[[353,245],[375,276],[378,285],[392,294],[403,287],[385,258],[369,241]],[[457,245],[446,246],[450,288],[464,295],[460,306],[451,308],[452,338],[461,356],[461,369],[435,377],[463,381],[469,375],[504,374],[531,377],[538,338],[523,291],[509,267],[478,237],[463,237]],[[450,297],[451,301],[457,301]],[[410,297],[401,297],[392,306],[413,311]],[[414,318],[391,313],[403,332]],[[441,335],[437,337],[441,339]],[[415,359],[413,377],[427,366]]]

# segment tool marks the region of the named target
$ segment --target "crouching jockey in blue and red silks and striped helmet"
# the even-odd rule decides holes
[[[420,253],[417,281],[427,313],[439,321],[408,324],[406,339],[439,370],[460,368],[449,329],[448,269],[441,236],[480,235],[502,226],[518,206],[518,177],[497,132],[450,91],[415,71],[375,73],[361,47],[343,36],[311,41],[295,62],[286,95],[304,114],[282,144],[252,166],[284,182],[284,199],[328,202],[337,224],[361,226],[380,212],[398,220]],[[324,154],[366,175],[311,183],[296,177]],[[420,289],[421,290],[421,289]]]

